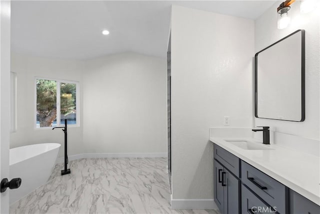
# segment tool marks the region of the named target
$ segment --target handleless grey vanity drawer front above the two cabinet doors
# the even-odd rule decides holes
[[[213,158],[218,160],[235,176],[240,177],[240,159],[216,144],[213,144],[213,150]]]

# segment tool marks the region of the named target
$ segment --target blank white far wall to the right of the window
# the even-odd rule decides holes
[[[88,153],[166,153],[166,61],[123,53],[85,61]]]

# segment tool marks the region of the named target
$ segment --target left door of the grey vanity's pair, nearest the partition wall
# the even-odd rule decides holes
[[[216,160],[213,160],[214,175],[213,175],[213,191],[214,191],[214,202],[218,206],[221,213],[223,212],[223,200],[224,192],[222,186],[222,172],[223,166],[219,164]]]

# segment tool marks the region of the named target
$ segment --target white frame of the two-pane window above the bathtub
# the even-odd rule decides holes
[[[80,84],[78,81],[73,80],[61,80],[61,79],[52,79],[52,78],[46,78],[46,77],[34,77],[34,120],[33,120],[33,126],[34,129],[52,129],[56,126],[50,126],[50,127],[36,127],[36,80],[42,79],[42,80],[52,80],[56,81],[56,126],[64,126],[60,124],[60,83],[71,83],[75,84],[75,118],[76,118],[76,124],[68,124],[68,127],[79,127],[80,126]]]

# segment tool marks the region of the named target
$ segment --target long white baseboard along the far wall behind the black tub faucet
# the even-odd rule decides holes
[[[83,154],[75,154],[69,155],[69,160],[76,160],[81,158],[112,158],[112,157],[166,157],[167,153],[83,153]],[[62,163],[64,161],[64,157],[58,157],[56,163]]]

